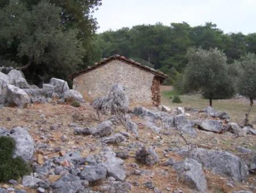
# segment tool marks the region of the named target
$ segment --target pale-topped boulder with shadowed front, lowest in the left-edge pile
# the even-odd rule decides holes
[[[30,97],[19,87],[7,85],[6,102],[10,106],[26,107],[30,103]]]

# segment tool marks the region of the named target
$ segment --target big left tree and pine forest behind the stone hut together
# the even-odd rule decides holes
[[[0,66],[23,70],[33,83],[68,80],[73,72],[120,54],[168,74],[166,84],[172,84],[184,72],[191,47],[218,48],[228,64],[256,53],[256,33],[224,33],[213,23],[142,24],[97,34],[93,12],[99,6],[101,0],[1,1]]]

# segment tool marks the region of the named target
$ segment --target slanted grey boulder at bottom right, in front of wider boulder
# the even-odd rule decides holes
[[[200,163],[187,158],[186,160],[174,163],[174,169],[182,182],[197,191],[207,192],[207,181]]]

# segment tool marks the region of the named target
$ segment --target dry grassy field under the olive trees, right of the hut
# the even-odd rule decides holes
[[[209,100],[204,99],[199,94],[191,95],[179,95],[183,103],[176,104],[172,103],[170,96],[176,95],[176,91],[163,91],[162,92],[162,103],[171,108],[175,107],[192,107],[197,109],[204,109],[209,106]],[[213,100],[213,108],[217,111],[226,111],[229,113],[232,121],[242,123],[245,118],[245,113],[249,107],[249,101],[244,99],[218,99]],[[250,123],[256,126],[256,104],[251,109]]]

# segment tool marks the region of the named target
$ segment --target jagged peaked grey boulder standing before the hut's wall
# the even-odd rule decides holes
[[[127,112],[129,110],[129,100],[122,85],[114,85],[108,96],[96,99],[92,105],[104,114],[117,114],[118,112]]]

